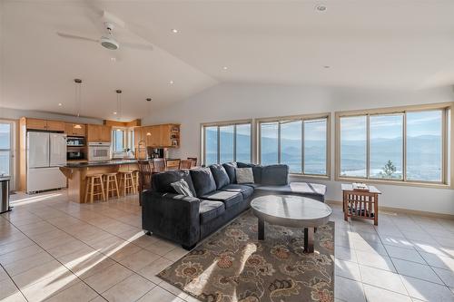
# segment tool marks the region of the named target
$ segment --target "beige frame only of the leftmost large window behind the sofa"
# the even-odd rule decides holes
[[[238,120],[238,121],[226,121],[226,122],[203,122],[201,123],[201,162],[202,165],[206,166],[206,137],[205,137],[205,128],[206,127],[217,127],[217,163],[219,163],[221,158],[221,135],[220,135],[220,127],[225,126],[234,126],[233,127],[233,161],[236,161],[236,126],[237,125],[244,125],[249,124],[251,126],[251,159],[250,162],[253,162],[253,123],[252,119],[249,120]]]

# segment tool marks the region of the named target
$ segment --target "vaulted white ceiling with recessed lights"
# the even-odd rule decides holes
[[[318,4],[327,10],[317,11]],[[222,82],[374,89],[454,83],[450,0],[35,0],[2,5],[5,107],[74,113],[76,77],[84,80],[83,115],[115,118],[114,90],[122,89],[123,120]],[[120,43],[153,45],[153,50],[121,47],[113,52],[56,34],[100,37],[103,10],[126,24],[114,29]],[[153,98],[152,105],[146,97]]]

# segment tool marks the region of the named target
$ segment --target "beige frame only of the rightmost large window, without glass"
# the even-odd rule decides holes
[[[335,112],[335,179],[336,181],[361,181],[365,183],[383,183],[395,185],[408,185],[416,187],[445,188],[453,189],[454,167],[454,149],[450,146],[454,138],[454,124],[452,122],[452,109],[454,102],[442,102],[423,105],[410,105],[400,107],[376,108],[370,110],[355,110]],[[407,179],[407,113],[408,112],[429,112],[442,111],[441,121],[441,181],[430,180],[408,180]],[[370,177],[370,116],[402,114],[402,179],[380,179]],[[341,118],[366,116],[366,177],[349,177],[341,175]],[[450,149],[450,150],[449,150]],[[451,164],[449,165],[449,162]]]

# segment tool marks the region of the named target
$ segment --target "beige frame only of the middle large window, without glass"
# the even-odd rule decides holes
[[[304,173],[304,121],[326,119],[326,174]],[[331,112],[289,115],[279,117],[260,118],[255,120],[257,132],[256,158],[259,164],[262,163],[262,123],[278,122],[278,162],[281,162],[281,122],[301,121],[301,173],[291,172],[292,176],[310,179],[331,180]]]

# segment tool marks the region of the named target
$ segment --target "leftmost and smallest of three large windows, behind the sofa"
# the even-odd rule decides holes
[[[202,124],[202,162],[252,161],[252,123],[219,122]]]

